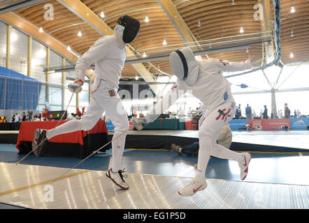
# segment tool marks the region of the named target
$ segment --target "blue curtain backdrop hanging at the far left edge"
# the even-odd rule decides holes
[[[35,110],[42,83],[0,66],[0,109]]]

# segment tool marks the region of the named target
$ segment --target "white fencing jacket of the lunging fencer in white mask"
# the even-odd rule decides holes
[[[163,95],[155,107],[150,108],[155,114],[146,116],[147,123],[154,121],[159,114],[165,112],[181,95],[189,92],[201,100],[208,112],[224,102],[233,101],[231,95],[231,84],[222,75],[222,72],[236,72],[252,68],[252,63],[229,62],[220,59],[205,59],[199,61],[199,77],[193,86],[188,86],[184,81],[178,79],[171,91]]]

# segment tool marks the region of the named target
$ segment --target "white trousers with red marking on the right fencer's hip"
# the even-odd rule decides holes
[[[213,109],[213,112],[203,120],[199,128],[199,158],[195,180],[202,181],[205,178],[210,155],[222,159],[240,160],[240,153],[230,151],[216,143],[222,128],[231,121],[235,112],[236,103],[229,101]]]

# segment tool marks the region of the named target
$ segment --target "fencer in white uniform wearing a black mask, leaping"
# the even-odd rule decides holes
[[[55,130],[36,130],[34,132],[33,148],[45,139],[51,139],[59,134],[78,130],[91,130],[99,121],[103,112],[115,126],[112,141],[112,157],[110,169],[106,176],[121,189],[129,189],[124,181],[121,167],[125,139],[129,130],[127,113],[122,106],[122,100],[117,93],[119,80],[126,59],[126,44],[131,43],[138,35],[140,22],[127,15],[120,17],[115,26],[113,36],[103,36],[83,54],[76,63],[76,80],[69,85],[69,90],[78,93],[85,82],[85,70],[95,63],[94,81],[90,89],[92,100],[87,113],[82,119],[69,121],[59,125]],[[40,154],[43,144],[34,151]]]

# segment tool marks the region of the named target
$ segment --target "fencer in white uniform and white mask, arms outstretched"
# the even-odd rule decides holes
[[[145,117],[146,121],[134,118],[134,125],[141,130],[147,123],[154,121],[181,95],[191,93],[201,100],[208,115],[199,128],[199,158],[196,175],[189,185],[181,188],[182,196],[192,196],[207,187],[205,173],[210,155],[222,159],[236,160],[240,167],[240,178],[247,176],[247,168],[251,159],[250,153],[236,153],[216,144],[224,125],[231,121],[236,112],[236,103],[231,95],[231,84],[222,72],[235,72],[252,68],[251,57],[245,62],[229,62],[220,59],[204,59],[196,61],[189,47],[172,52],[169,57],[173,74],[177,82],[155,107],[149,112],[155,114]]]

